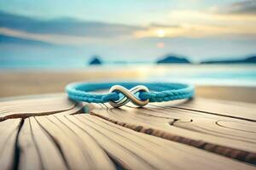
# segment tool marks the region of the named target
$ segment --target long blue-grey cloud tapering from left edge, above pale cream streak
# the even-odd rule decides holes
[[[38,20],[17,14],[0,11],[0,27],[34,34],[54,34],[76,37],[125,37],[133,31],[143,29],[139,26],[127,26],[96,21],[82,21],[72,18],[56,20]]]

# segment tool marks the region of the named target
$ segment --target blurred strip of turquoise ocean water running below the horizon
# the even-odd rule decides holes
[[[3,60],[2,60],[3,61]],[[63,61],[64,62],[64,61]],[[0,71],[135,71],[143,81],[185,82],[195,85],[256,87],[256,65],[100,65],[90,66],[73,60],[55,62],[0,62]],[[106,78],[108,74],[106,75]]]

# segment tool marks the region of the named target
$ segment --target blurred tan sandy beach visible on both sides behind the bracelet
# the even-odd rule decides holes
[[[144,80],[137,70],[126,71],[1,71],[0,97],[64,92],[69,82]],[[256,103],[256,88],[196,86],[196,96]]]

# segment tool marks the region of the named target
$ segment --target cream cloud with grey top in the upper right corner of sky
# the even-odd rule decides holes
[[[172,24],[202,24],[208,26],[256,26],[256,1],[242,1],[205,10],[172,10]]]

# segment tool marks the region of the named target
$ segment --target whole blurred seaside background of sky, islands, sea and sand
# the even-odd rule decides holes
[[[0,97],[119,79],[256,102],[256,1],[0,0]]]

